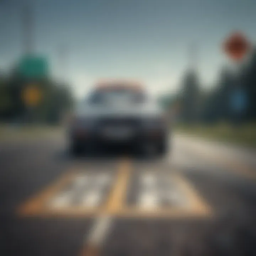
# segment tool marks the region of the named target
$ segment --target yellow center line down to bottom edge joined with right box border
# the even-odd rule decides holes
[[[103,213],[99,216],[97,224],[101,225],[102,220],[108,218],[108,216],[118,216],[118,217],[127,217],[127,218],[202,218],[209,217],[212,215],[211,208],[207,205],[206,202],[198,195],[196,190],[192,185],[181,175],[174,175],[176,183],[179,187],[182,188],[182,192],[185,193],[188,201],[190,202],[190,207],[184,209],[182,207],[170,207],[166,210],[142,210],[138,207],[126,207],[124,205],[124,199],[127,194],[127,186],[130,176],[130,164],[128,161],[122,161],[119,167],[118,176],[116,179],[116,184],[111,191],[110,197],[106,204],[106,208],[103,210]],[[92,229],[92,235],[89,234],[89,239],[86,241],[84,247],[82,248],[79,256],[99,256],[101,255],[101,245],[103,239],[109,233],[109,226],[106,229],[101,230],[100,232]],[[90,237],[92,236],[92,239]],[[94,237],[94,238],[93,238]],[[98,240],[100,242],[98,242]]]

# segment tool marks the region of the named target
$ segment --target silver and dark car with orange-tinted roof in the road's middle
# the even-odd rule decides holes
[[[68,126],[72,154],[101,146],[131,146],[139,154],[167,151],[168,123],[157,101],[141,84],[108,81],[96,84],[78,103]]]

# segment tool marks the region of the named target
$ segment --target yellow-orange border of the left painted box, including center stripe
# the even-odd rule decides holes
[[[102,214],[116,213],[123,207],[123,199],[126,195],[126,186],[129,180],[129,161],[123,159],[120,162],[116,182],[107,197],[107,203],[99,207],[86,206],[67,206],[62,208],[49,208],[47,202],[54,198],[68,185],[76,175],[81,172],[71,171],[64,174],[59,180],[48,186],[41,193],[29,199],[18,207],[17,213],[20,216],[39,216],[39,217],[95,217]]]

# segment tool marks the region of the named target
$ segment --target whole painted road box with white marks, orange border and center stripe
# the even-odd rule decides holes
[[[117,174],[98,170],[66,174],[25,202],[19,214],[168,218],[211,214],[210,207],[178,172],[143,168],[132,171],[128,163],[123,162]]]

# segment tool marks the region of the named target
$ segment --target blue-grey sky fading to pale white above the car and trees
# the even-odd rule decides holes
[[[25,0],[23,0],[25,1]],[[35,54],[83,97],[99,78],[132,78],[153,94],[178,90],[194,64],[202,86],[229,65],[223,40],[256,40],[255,0],[30,0]],[[22,1],[0,0],[0,70],[24,52]]]

